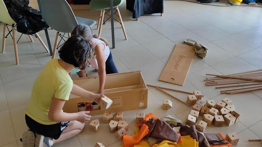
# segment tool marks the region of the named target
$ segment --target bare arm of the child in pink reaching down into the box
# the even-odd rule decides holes
[[[106,72],[105,72],[105,53],[104,53],[105,45],[97,44],[95,47],[96,53],[96,60],[98,64],[98,75],[99,75],[99,94],[104,93],[105,87],[105,79],[106,79]]]

